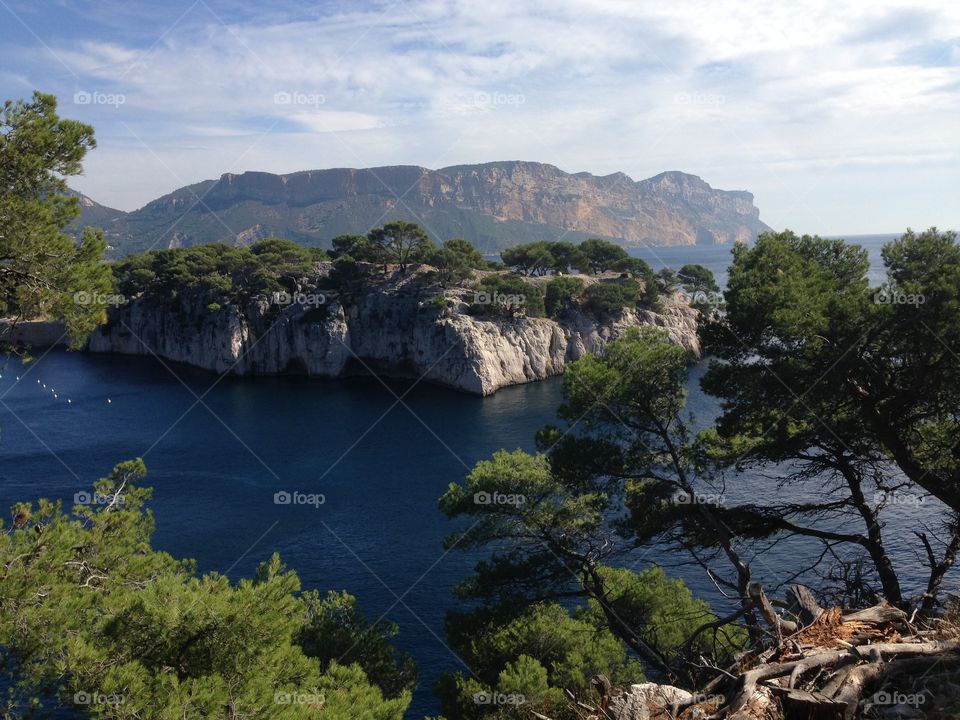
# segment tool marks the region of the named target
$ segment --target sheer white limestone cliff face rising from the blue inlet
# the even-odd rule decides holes
[[[135,300],[111,311],[88,349],[156,355],[236,375],[336,378],[367,371],[423,377],[476,395],[560,374],[566,363],[603,352],[640,325],[662,327],[700,354],[697,313],[677,296],[664,300],[662,314],[625,310],[608,326],[585,313],[562,322],[473,317],[462,305],[441,313],[424,300],[412,283],[380,286],[347,308],[329,302],[321,321],[299,305],[278,311],[266,301],[245,312],[235,306],[211,312],[202,305],[170,310]]]

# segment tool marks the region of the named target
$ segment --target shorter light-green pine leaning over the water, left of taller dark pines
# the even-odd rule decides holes
[[[503,623],[532,603],[579,598],[583,604],[571,617],[589,618],[598,634],[621,644],[618,652],[660,676],[689,677],[691,652],[726,658],[739,646],[742,637],[736,631],[698,632],[716,616],[682,583],[659,568],[638,573],[622,567],[634,549],[625,539],[635,532],[615,520],[623,514],[625,493],[658,483],[654,507],[664,506],[673,522],[698,511],[670,502],[677,489],[692,491],[694,480],[660,474],[672,461],[664,459],[670,446],[656,429],[676,422],[683,408],[686,364],[685,351],[662,331],[628,333],[610,343],[602,357],[587,355],[567,367],[558,414],[569,426],[548,426],[538,434],[542,454],[501,450],[478,463],[463,484],[450,486],[441,509],[471,523],[449,538],[448,547],[490,551],[458,588],[461,597],[480,601],[482,610],[466,619],[451,616],[454,643],[461,642],[461,630],[455,628],[465,622],[482,625],[493,617]],[[674,439],[683,435],[671,432]],[[549,663],[544,666],[551,686]],[[493,683],[505,667],[492,664],[491,674],[482,679]],[[558,687],[589,693],[585,682]]]

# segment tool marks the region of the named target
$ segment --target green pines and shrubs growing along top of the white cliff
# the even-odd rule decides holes
[[[543,267],[538,265],[542,258]],[[334,238],[329,251],[267,238],[249,247],[211,244],[154,250],[115,263],[113,273],[118,292],[128,299],[144,297],[170,307],[195,302],[215,312],[274,293],[307,289],[335,293],[348,303],[390,273],[403,277],[413,272],[421,286],[439,294],[441,309],[446,307],[444,291],[460,287],[472,291],[467,300],[473,315],[562,318],[582,308],[600,323],[615,319],[624,308],[656,308],[661,290],[672,291],[679,283],[665,282],[643,260],[602,240],[579,246],[564,242],[517,246],[504,251],[504,259],[513,271],[502,265],[498,269],[465,240],[454,238],[438,248],[420,226],[397,221],[367,235]],[[321,270],[317,265],[329,261],[332,267]],[[411,270],[414,265],[416,270]],[[713,284],[709,270],[688,267]],[[582,270],[589,282],[564,275],[571,270]],[[540,280],[546,275],[553,277],[544,284]]]

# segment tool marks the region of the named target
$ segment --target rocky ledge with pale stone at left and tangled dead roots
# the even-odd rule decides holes
[[[780,615],[759,585],[749,589],[773,642],[690,692],[643,683],[628,690],[598,677],[597,706],[584,720],[854,720],[960,718],[960,627],[914,624],[887,604],[856,611],[821,608],[791,587]],[[583,712],[586,711],[586,712]],[[549,719],[547,719],[549,720]]]

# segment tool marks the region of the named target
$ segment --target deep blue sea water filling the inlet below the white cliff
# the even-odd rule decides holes
[[[658,257],[717,272],[729,249],[658,249],[649,260]],[[715,406],[696,386],[702,372],[692,372],[690,407],[709,417]],[[0,378],[0,506],[41,496],[70,502],[116,462],[143,457],[158,548],[234,578],[279,552],[305,587],[346,589],[371,620],[386,613],[420,666],[409,712],[419,718],[436,710],[437,674],[462,667],[445,645],[443,617],[453,584],[478,559],[443,554],[453,526],[436,500],[493,451],[532,450],[534,432],[554,420],[559,390],[550,380],[481,399],[374,378],[216,382],[147,358],[53,351],[27,369],[11,361]],[[294,490],[322,493],[325,503],[274,504],[274,493]],[[728,488],[734,501],[764,494],[783,493],[751,478]],[[892,533],[906,540],[915,522],[905,510]],[[903,547],[897,559],[909,573],[916,560]],[[784,568],[814,551],[776,547],[755,559],[756,572],[780,582]],[[647,548],[635,560],[670,566],[722,605],[681,556]]]

